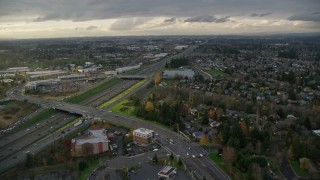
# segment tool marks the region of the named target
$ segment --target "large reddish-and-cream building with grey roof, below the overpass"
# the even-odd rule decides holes
[[[100,154],[109,150],[109,140],[104,129],[92,128],[88,134],[72,139],[71,147],[76,157]]]

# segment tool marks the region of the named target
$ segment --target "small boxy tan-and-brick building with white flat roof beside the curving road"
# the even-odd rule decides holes
[[[154,142],[154,131],[139,128],[133,131],[133,142],[140,146],[147,146]]]

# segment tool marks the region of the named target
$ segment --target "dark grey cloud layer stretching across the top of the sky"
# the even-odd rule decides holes
[[[42,21],[89,21],[130,17],[196,17],[201,14],[239,16],[255,12],[273,12],[280,19],[288,14],[303,14],[320,9],[319,0],[0,0],[0,19],[34,18]],[[253,13],[263,17],[268,13]],[[278,17],[277,17],[278,18]],[[223,21],[221,19],[220,21]],[[217,22],[220,22],[219,20]],[[216,22],[206,17],[203,22]]]

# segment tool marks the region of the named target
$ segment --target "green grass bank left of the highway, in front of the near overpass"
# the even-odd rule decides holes
[[[17,128],[15,128],[13,131],[10,132],[10,134],[21,131],[23,129],[28,128],[29,126],[36,124],[46,118],[49,118],[50,116],[52,116],[55,113],[55,110],[53,109],[45,109],[42,112],[40,112],[39,114],[33,116],[31,119],[29,119],[28,121],[26,121],[25,123],[21,124],[20,126],[18,126]]]

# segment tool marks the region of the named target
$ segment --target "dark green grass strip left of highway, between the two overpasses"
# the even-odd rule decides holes
[[[106,90],[107,88],[114,86],[115,84],[119,83],[120,81],[121,80],[119,78],[113,78],[113,79],[111,79],[111,80],[109,80],[109,81],[107,81],[97,87],[89,89],[88,91],[85,91],[82,94],[70,97],[64,101],[69,102],[69,103],[80,103],[81,101],[88,99],[92,95],[99,94],[99,93],[103,92],[104,90]]]

